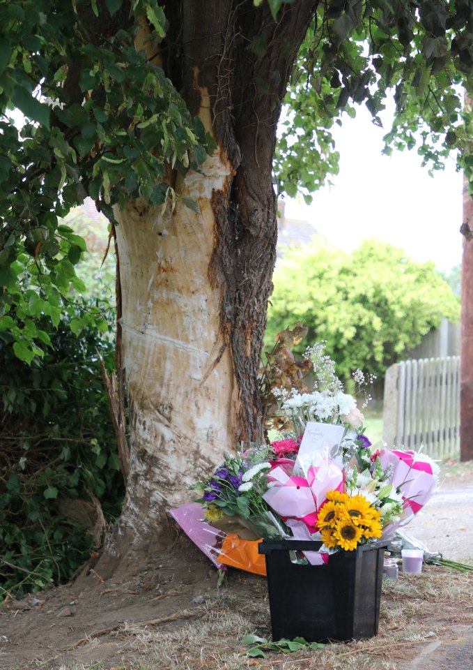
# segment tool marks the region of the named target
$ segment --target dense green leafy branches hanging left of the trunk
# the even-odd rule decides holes
[[[122,4],[1,3],[0,332],[13,332],[28,363],[50,346],[34,319],[59,325],[70,286],[85,290],[75,274],[84,239],[61,218],[87,195],[112,221],[127,199],[176,200],[166,170],[197,168],[215,146],[134,46],[137,22],[149,22],[151,40],[164,36],[162,9]],[[20,130],[14,107],[26,117]]]

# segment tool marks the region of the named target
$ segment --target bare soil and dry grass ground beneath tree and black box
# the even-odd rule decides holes
[[[0,667],[405,670],[434,643],[454,653],[455,641],[473,641],[473,576],[426,566],[420,576],[383,584],[378,637],[252,659],[240,655],[240,641],[248,633],[270,636],[265,579],[238,570],[220,588],[217,579],[180,535],[168,553],[120,580],[91,571],[69,586],[3,604]]]

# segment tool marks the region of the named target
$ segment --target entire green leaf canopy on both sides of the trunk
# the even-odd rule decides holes
[[[238,8],[256,13],[264,3],[274,22],[290,10],[288,0]],[[391,90],[387,145],[413,147],[420,128],[424,161],[441,168],[460,149],[470,179],[471,114],[460,95],[471,89],[470,0],[331,0],[314,12],[286,96],[280,189],[310,200],[337,170],[333,124],[360,103],[379,123]],[[14,333],[15,353],[30,363],[50,346],[34,319],[57,326],[68,289],[81,290],[84,241],[60,219],[86,195],[111,221],[126,200],[172,206],[171,175],[199,169],[215,142],[156,64],[162,48],[176,47],[158,0],[3,0],[1,13],[0,332]],[[247,47],[263,56],[268,45]],[[21,129],[13,108],[26,117]]]

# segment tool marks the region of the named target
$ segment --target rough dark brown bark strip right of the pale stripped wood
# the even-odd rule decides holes
[[[262,437],[258,366],[277,241],[272,159],[290,70],[316,6],[313,0],[284,5],[274,22],[266,3],[254,8],[251,0],[166,5],[169,72],[194,113],[199,89],[208,91],[212,130],[234,171],[212,202],[211,271],[224,286],[222,327],[238,383],[242,440]]]

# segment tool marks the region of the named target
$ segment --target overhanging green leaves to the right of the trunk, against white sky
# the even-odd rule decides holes
[[[281,6],[281,0],[270,2]],[[441,170],[458,150],[458,165],[473,181],[471,3],[457,1],[331,0],[318,5],[286,95],[287,116],[277,146],[280,191],[306,202],[338,170],[331,128],[343,112],[364,103],[379,113],[394,96],[396,116],[385,152],[412,149],[423,165]]]

